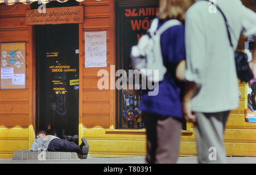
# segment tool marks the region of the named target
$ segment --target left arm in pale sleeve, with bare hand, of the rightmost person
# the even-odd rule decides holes
[[[185,89],[183,96],[183,114],[188,122],[196,122],[192,112],[192,98],[197,87],[202,84],[203,65],[205,56],[205,36],[201,16],[197,10],[188,10],[185,20],[185,48],[187,70],[185,71]]]

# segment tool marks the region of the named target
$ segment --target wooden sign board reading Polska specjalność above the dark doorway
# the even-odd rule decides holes
[[[38,9],[27,10],[27,25],[44,25],[44,24],[71,24],[84,22],[84,7],[56,7],[46,8],[41,12]]]

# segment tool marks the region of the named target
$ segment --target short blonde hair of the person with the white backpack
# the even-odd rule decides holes
[[[158,18],[184,21],[185,12],[194,2],[194,0],[160,0]]]

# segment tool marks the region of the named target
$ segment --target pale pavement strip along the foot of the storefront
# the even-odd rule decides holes
[[[0,164],[144,164],[145,157],[93,158],[76,160],[0,159]],[[227,157],[228,164],[256,164],[256,157]],[[197,157],[179,157],[177,164],[197,164]]]

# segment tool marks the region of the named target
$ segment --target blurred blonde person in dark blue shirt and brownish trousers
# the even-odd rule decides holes
[[[184,22],[185,11],[192,0],[161,0],[159,8],[160,28],[170,19]],[[185,29],[183,23],[168,28],[160,36],[163,63],[167,67],[164,79],[159,83],[159,93],[148,96],[143,93],[141,111],[147,133],[146,163],[176,163],[179,155],[182,128],[181,81],[185,74]]]

